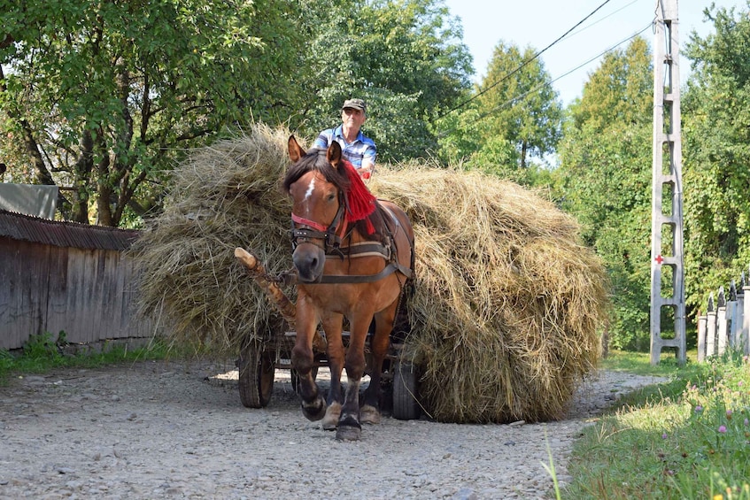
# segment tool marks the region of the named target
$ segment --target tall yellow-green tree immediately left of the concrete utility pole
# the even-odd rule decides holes
[[[569,107],[557,178],[561,205],[612,283],[613,347],[649,345],[653,69],[638,37],[607,54]]]

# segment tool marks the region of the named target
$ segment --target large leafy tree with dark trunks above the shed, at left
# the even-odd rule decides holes
[[[0,0],[0,12],[0,154],[16,180],[72,188],[68,219],[143,214],[180,151],[297,107],[284,77],[300,12],[283,0]]]

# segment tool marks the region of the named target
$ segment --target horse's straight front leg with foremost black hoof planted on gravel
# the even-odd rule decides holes
[[[344,405],[336,428],[336,439],[339,441],[356,441],[362,434],[360,425],[360,381],[365,373],[365,340],[367,327],[372,320],[372,312],[350,318],[351,332],[349,348],[346,350],[344,367],[346,368],[346,393]]]

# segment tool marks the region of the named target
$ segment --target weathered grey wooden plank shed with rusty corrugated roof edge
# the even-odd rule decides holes
[[[48,332],[71,343],[151,336],[124,254],[138,234],[0,210],[0,349]]]

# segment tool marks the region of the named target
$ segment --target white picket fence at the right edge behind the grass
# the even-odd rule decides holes
[[[750,284],[742,273],[739,286],[731,282],[729,294],[719,288],[708,297],[707,312],[698,317],[698,361],[721,356],[727,350],[750,354]]]

